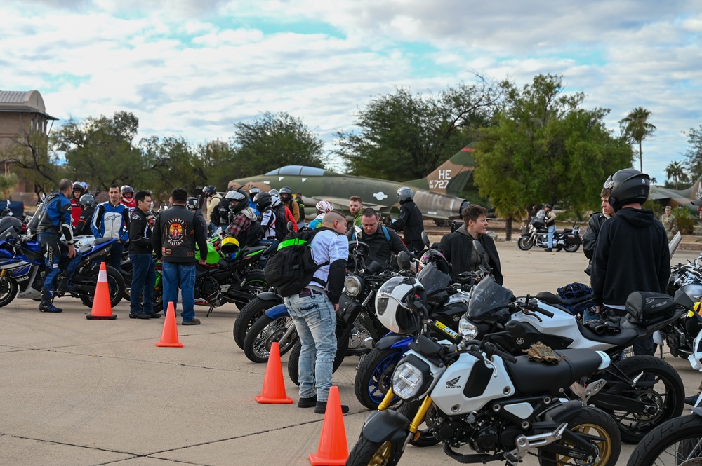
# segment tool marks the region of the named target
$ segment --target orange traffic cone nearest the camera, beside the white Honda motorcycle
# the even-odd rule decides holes
[[[322,423],[322,436],[319,437],[317,453],[310,455],[310,462],[312,466],[345,465],[348,455],[339,388],[335,385],[329,389],[329,399],[326,400],[326,412]]]

